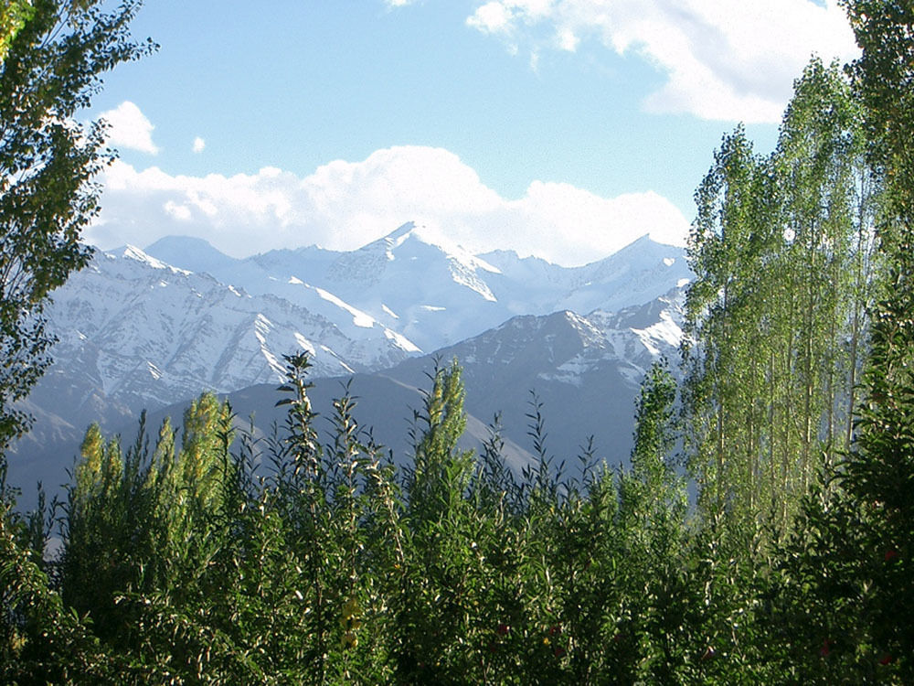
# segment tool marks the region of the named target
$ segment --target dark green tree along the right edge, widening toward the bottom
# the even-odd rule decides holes
[[[808,498],[781,554],[781,592],[775,598],[780,610],[773,616],[771,645],[800,665],[792,681],[910,683],[914,9],[897,0],[844,5],[862,48],[848,71],[863,107],[866,157],[885,185],[876,224],[882,273],[871,307],[856,441],[834,466],[837,488]]]

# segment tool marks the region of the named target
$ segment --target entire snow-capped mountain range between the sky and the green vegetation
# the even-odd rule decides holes
[[[558,456],[593,434],[598,455],[624,459],[643,372],[681,336],[683,249],[645,236],[568,268],[434,235],[410,222],[352,252],[245,259],[187,237],[96,251],[48,307],[55,362],[24,403],[37,422],[11,478],[55,486],[90,422],[129,432],[141,409],[174,415],[204,390],[228,394],[240,416],[275,416],[282,356],[298,350],[314,364],[318,409],[351,379],[356,416],[398,455],[417,389],[436,359],[456,358],[470,438],[501,413],[515,466],[530,458],[529,391]]]

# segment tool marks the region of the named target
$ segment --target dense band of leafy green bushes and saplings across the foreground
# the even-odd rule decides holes
[[[630,471],[515,477],[497,434],[458,449],[454,363],[397,469],[335,402],[318,441],[307,361],[282,429],[239,436],[203,395],[122,449],[90,428],[64,508],[3,520],[9,683],[835,683],[907,681],[909,584],[889,509],[836,490],[776,543],[690,509],[664,460],[675,381],[638,403]],[[543,426],[531,414],[534,443]],[[254,468],[254,456],[265,460]],[[828,504],[828,509],[823,504]]]

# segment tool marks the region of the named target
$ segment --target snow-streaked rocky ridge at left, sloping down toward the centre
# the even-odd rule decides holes
[[[415,350],[370,317],[358,321],[314,289],[309,295],[336,319],[345,321],[344,312],[351,326],[276,295],[249,295],[133,246],[96,252],[48,308],[58,364],[42,384],[67,379],[82,391],[72,398],[78,406],[99,396],[137,411],[205,389],[280,381],[282,356],[296,350],[309,352],[320,375],[377,369]]]

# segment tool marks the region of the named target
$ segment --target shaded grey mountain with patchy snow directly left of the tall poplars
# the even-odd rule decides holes
[[[616,464],[632,449],[634,401],[644,372],[661,356],[677,357],[684,304],[684,290],[674,288],[617,312],[516,316],[383,373],[421,386],[434,358],[456,358],[467,411],[484,421],[498,413],[505,436],[517,445],[531,449],[526,414],[532,391],[543,403],[547,448],[559,459],[572,460],[592,435],[597,455]]]

